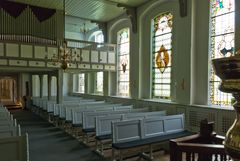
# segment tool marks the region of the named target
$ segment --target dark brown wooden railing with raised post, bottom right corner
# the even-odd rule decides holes
[[[170,160],[230,161],[224,149],[224,139],[213,132],[213,122],[203,120],[199,134],[170,140]]]

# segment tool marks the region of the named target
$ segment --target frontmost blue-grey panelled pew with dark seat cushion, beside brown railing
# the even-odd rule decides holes
[[[152,160],[154,145],[190,134],[184,130],[183,115],[112,122],[112,158],[122,161],[125,155],[129,155],[129,150],[146,147],[144,152],[149,152],[149,155],[143,152],[140,156]]]

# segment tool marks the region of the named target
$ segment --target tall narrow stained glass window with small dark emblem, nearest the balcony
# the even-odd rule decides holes
[[[129,28],[117,33],[118,95],[129,96]]]

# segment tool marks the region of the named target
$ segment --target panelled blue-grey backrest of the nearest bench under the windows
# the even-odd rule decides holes
[[[145,118],[138,121],[137,125],[136,120],[112,122],[113,143],[141,140],[184,131],[184,115]]]

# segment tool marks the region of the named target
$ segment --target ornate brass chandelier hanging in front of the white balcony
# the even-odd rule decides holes
[[[67,41],[64,41],[63,46],[59,47],[59,54],[54,53],[50,59],[52,65],[57,66],[60,64],[60,67],[66,70],[71,64],[77,64],[79,58],[80,54],[77,54],[77,50],[67,48]]]

